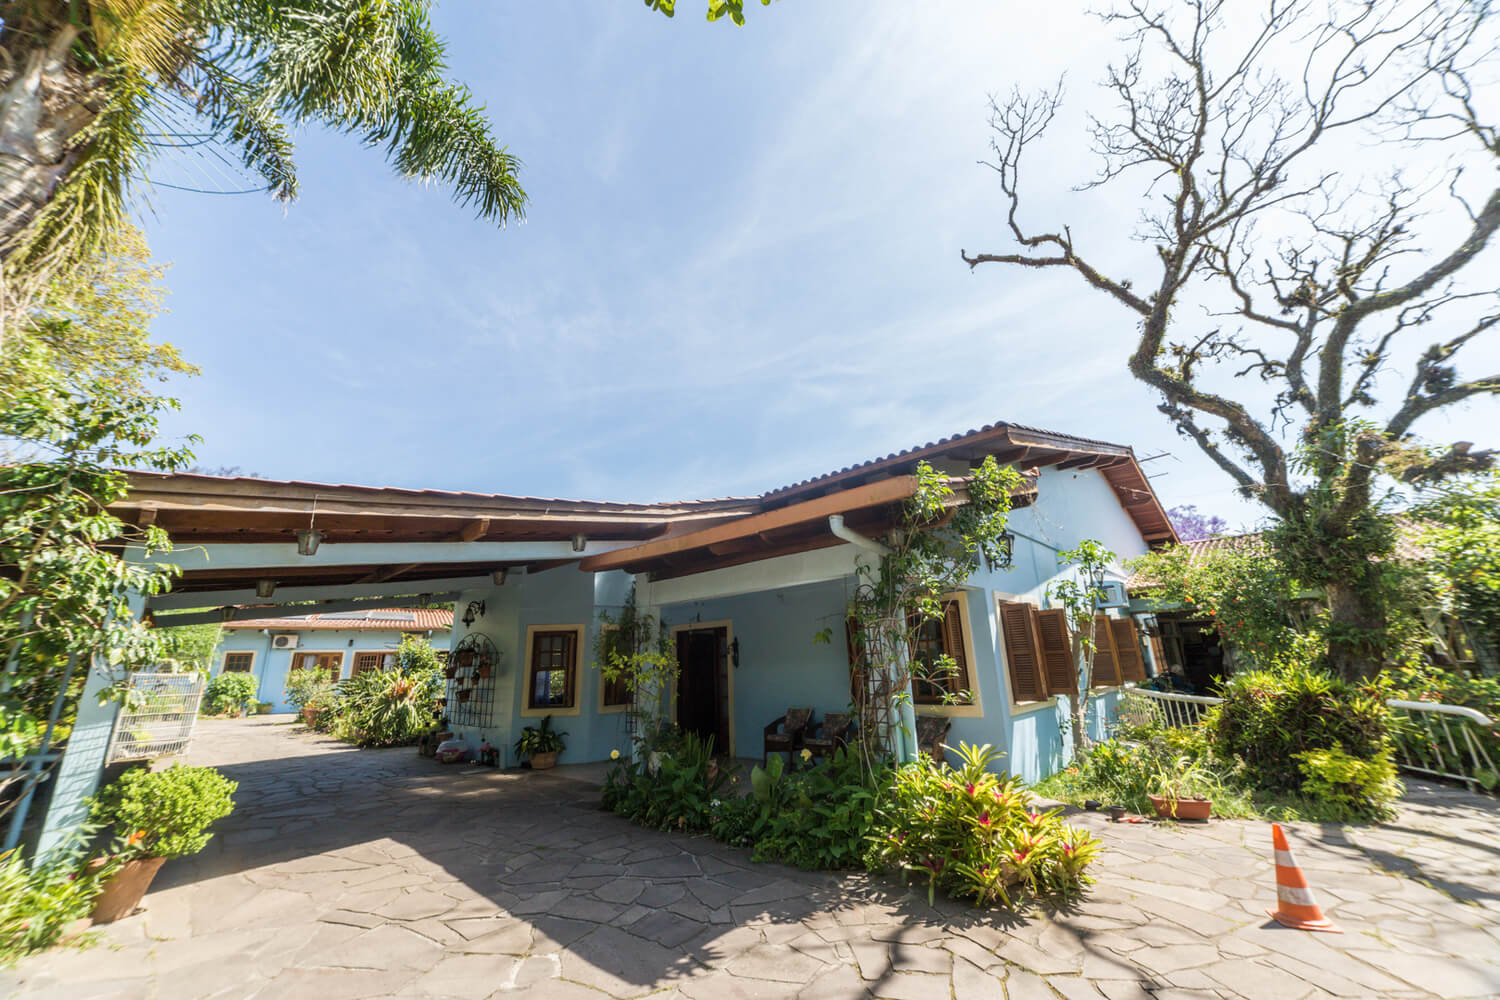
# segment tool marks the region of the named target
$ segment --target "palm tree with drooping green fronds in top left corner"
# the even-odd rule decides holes
[[[519,162],[468,88],[444,79],[428,7],[0,0],[0,276],[10,309],[108,246],[132,184],[153,156],[186,144],[184,132],[232,150],[290,201],[290,126],[320,121],[384,145],[398,171],[448,184],[482,219],[519,219]]]

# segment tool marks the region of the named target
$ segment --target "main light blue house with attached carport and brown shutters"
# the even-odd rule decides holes
[[[1074,697],[1059,681],[1071,673],[1070,637],[1047,601],[1062,573],[1058,552],[1096,538],[1124,562],[1176,540],[1126,445],[996,423],[759,496],[657,504],[136,472],[112,510],[160,525],[178,546],[153,556],[183,570],[172,592],[146,601],[154,621],[231,616],[224,652],[252,654],[264,700],[282,703],[292,657],[266,646],[276,634],[297,633],[297,651],[328,655],[330,672],[338,654],[348,673],[358,652],[376,651],[360,645],[368,633],[310,630],[309,616],[346,625],[333,616],[423,595],[454,603],[454,664],[486,666],[483,679],[476,669],[448,691],[453,730],[474,747],[508,748],[524,726],[552,715],[567,732],[564,763],[603,760],[627,747],[630,706],[603,682],[594,645],[600,615],[618,613],[633,591],[676,643],[674,718],[714,735],[722,751],[759,757],[765,724],[788,708],[848,711],[848,648],[814,637],[842,634],[858,567],[878,558],[872,540],[897,523],[916,465],[962,489],[990,456],[1026,481],[1010,520],[1011,558],[948,594],[942,627],[924,637],[958,663],[956,688],[972,700],[945,705],[914,691],[915,714],[946,717],[950,744],[993,744],[1008,769],[1035,780],[1066,757]],[[1106,711],[1152,661],[1125,577],[1113,567],[1107,586],[1118,600],[1104,610],[1108,642],[1088,696]],[[273,618],[267,604],[279,601],[291,618]]]

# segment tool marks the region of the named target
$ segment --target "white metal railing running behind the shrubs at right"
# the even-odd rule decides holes
[[[1130,696],[1148,699],[1150,721],[1162,726],[1197,726],[1209,706],[1224,703],[1224,699],[1202,694],[1144,688],[1131,688]],[[1472,792],[1497,786],[1500,772],[1496,771],[1494,760],[1479,738],[1482,730],[1496,729],[1494,720],[1488,715],[1462,705],[1440,702],[1390,699],[1386,706],[1401,724],[1395,741],[1395,757],[1402,771],[1462,781]],[[1131,709],[1122,706],[1122,721],[1143,721],[1130,715]]]

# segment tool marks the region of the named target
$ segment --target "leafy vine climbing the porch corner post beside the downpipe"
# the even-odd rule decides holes
[[[972,703],[972,691],[957,687],[952,657],[924,660],[918,640],[942,622],[944,594],[962,588],[981,561],[1008,559],[1005,525],[1022,486],[1020,474],[993,456],[966,477],[948,477],[926,462],[915,477],[897,526],[880,538],[886,552],[878,562],[860,561],[844,622],[860,751],[872,766],[892,756],[900,735],[912,738],[902,717],[914,681],[940,691],[944,703]],[[819,634],[820,642],[831,639],[832,630]]]

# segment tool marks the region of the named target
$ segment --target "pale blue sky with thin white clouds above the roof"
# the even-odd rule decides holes
[[[156,187],[158,333],[198,462],[322,483],[582,499],[756,495],[996,420],[1132,445],[1166,505],[1262,514],[1125,370],[1131,316],[1012,249],[987,99],[1066,75],[1036,225],[1137,267],[1137,205],[1092,175],[1082,111],[1119,51],[1014,3],[438,4],[450,73],[524,162],[500,229],[380,150],[298,133],[302,198]],[[231,192],[207,160],[159,180]],[[1500,354],[1491,351],[1491,358]],[[1474,372],[1478,373],[1478,372]],[[1485,441],[1500,409],[1425,426]]]

